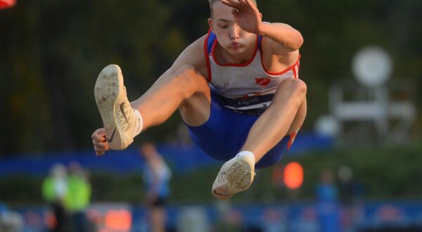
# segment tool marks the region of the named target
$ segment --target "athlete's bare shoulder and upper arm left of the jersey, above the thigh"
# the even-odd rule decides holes
[[[204,42],[207,35],[196,39],[192,44],[186,47],[181,52],[179,57],[174,61],[171,70],[179,70],[179,67],[183,65],[191,65],[198,72],[200,72],[205,78],[207,77],[207,63],[205,62],[205,51]]]

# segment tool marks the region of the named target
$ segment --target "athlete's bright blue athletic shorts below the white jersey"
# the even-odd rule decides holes
[[[210,157],[230,160],[246,141],[252,124],[260,115],[246,115],[225,108],[219,96],[211,91],[210,118],[198,127],[186,124],[193,141]],[[295,134],[284,136],[262,159],[255,169],[269,167],[279,162],[293,142]]]

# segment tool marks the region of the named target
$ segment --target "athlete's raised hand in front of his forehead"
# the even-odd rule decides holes
[[[220,1],[222,1],[222,4],[234,8],[232,13],[239,27],[247,32],[260,34],[262,27],[261,13],[251,0]]]

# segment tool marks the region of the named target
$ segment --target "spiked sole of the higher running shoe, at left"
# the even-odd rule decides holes
[[[123,88],[122,70],[118,65],[108,65],[98,75],[94,95],[96,105],[106,129],[108,146],[122,150],[122,136],[116,121],[117,98]]]

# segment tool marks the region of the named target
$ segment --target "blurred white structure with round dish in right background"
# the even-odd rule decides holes
[[[402,82],[390,87],[387,85],[392,73],[392,60],[388,53],[378,46],[365,47],[354,56],[352,72],[360,85],[343,83],[330,88],[331,127],[332,120],[335,120],[338,122],[335,131],[345,134],[346,122],[372,122],[378,138],[376,141],[403,143],[415,121],[416,110],[411,102],[409,86]],[[395,100],[394,91],[399,91],[401,98],[405,98]],[[345,99],[350,96],[351,100]],[[392,122],[395,122],[394,126]]]

